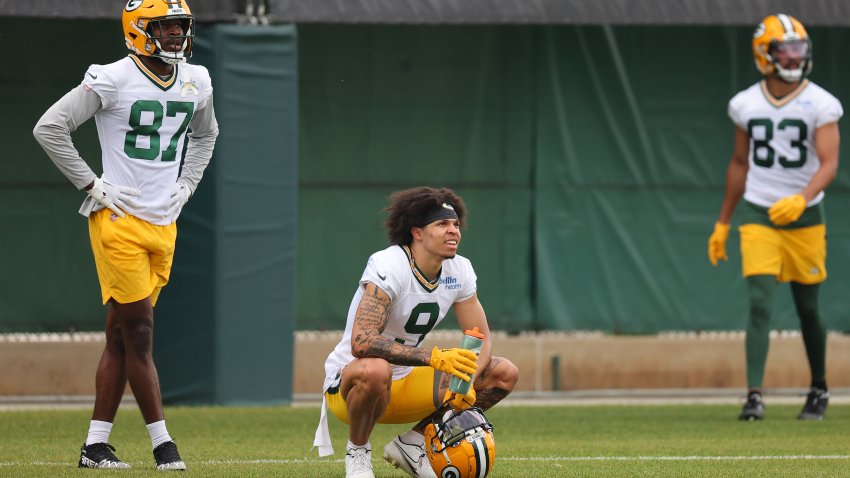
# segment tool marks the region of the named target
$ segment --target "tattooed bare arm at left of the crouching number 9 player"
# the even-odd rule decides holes
[[[395,365],[428,365],[428,350],[409,347],[381,335],[389,321],[390,299],[374,284],[367,284],[354,318],[352,351],[356,357],[382,358]]]

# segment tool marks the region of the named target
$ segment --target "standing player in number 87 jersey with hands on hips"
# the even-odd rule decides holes
[[[87,194],[80,213],[88,217],[107,306],[106,346],[79,466],[130,467],[108,442],[129,381],[156,468],[185,470],[162,412],[152,356],[153,308],[171,272],[175,221],[212,157],[218,125],[209,73],[186,63],[194,34],[186,2],[130,0],[121,22],[130,55],[91,65],[82,83],[51,106],[33,131],[56,167]],[[101,177],[71,142],[71,132],[92,116],[102,151]]]

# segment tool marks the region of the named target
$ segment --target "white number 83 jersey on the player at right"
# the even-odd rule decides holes
[[[815,130],[843,114],[841,102],[809,80],[781,99],[768,93],[764,81],[735,95],[729,101],[729,117],[750,136],[744,199],[770,207],[799,194],[820,168]],[[823,191],[808,205],[822,199]]]

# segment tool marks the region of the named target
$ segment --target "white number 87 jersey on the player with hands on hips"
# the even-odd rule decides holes
[[[102,103],[95,121],[103,175],[112,184],[141,191],[134,198],[139,207],[127,212],[153,224],[169,224],[166,213],[189,122],[212,96],[209,72],[181,63],[163,80],[130,55],[91,65],[82,84]]]

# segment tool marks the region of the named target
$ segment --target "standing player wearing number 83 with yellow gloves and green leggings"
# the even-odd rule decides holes
[[[841,103],[806,77],[812,43],[789,15],[770,15],[756,28],[753,54],[764,78],[729,101],[737,126],[726,170],[726,195],[708,241],[712,264],[726,259],[729,220],[743,195],[741,257],[749,288],[746,333],[747,401],[742,420],[764,417],[762,379],[777,282],[791,294],[811,368],[811,389],[799,418],[820,420],[829,402],[826,329],[818,289],[826,279],[824,189],[838,170]]]

